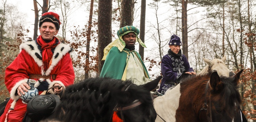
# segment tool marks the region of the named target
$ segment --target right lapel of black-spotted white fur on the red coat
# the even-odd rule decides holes
[[[62,49],[63,48],[63,49]],[[62,51],[61,51],[62,49]],[[52,58],[52,64],[51,66],[49,66],[49,68],[46,70],[45,74],[43,75],[49,75],[51,73],[51,71],[53,70],[53,68],[58,64],[58,62],[60,61],[60,59],[67,54],[69,51],[71,50],[71,48],[68,45],[65,45],[63,43],[60,43],[54,50],[54,54],[53,54],[53,58]],[[55,58],[55,56],[58,54],[58,56]]]

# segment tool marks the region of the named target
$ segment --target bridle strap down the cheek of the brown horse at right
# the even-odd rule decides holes
[[[208,88],[209,88],[209,83],[210,83],[210,81],[207,82],[206,87],[205,87],[204,104],[203,104],[203,107],[199,110],[199,116],[200,116],[201,113],[203,113],[203,112],[205,112],[205,113],[203,113],[203,114],[205,114],[205,116],[207,116],[208,105],[207,105],[206,95],[207,95],[207,91],[208,91]],[[210,101],[210,104],[209,104],[210,117],[207,116],[207,121],[208,121],[208,122],[212,122],[212,103],[211,103],[211,97],[209,97],[209,101]]]

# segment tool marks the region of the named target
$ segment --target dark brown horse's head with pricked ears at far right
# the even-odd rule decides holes
[[[213,72],[210,80],[207,83],[209,89],[205,92],[207,99],[207,117],[211,122],[234,122],[236,117],[240,116],[240,93],[237,89],[239,84],[240,70],[237,74],[231,77],[219,77],[217,72]]]

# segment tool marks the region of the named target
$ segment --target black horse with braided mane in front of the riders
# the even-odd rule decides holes
[[[110,78],[90,78],[66,87],[60,104],[47,120],[63,122],[154,122],[150,91],[162,76],[144,85]]]

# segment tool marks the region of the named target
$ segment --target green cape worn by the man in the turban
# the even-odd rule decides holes
[[[138,58],[140,59],[140,62],[142,64],[142,67],[144,69],[144,75],[148,79],[150,78],[148,75],[148,72],[146,70],[145,64],[143,63],[141,56],[138,52],[134,51]],[[104,65],[102,67],[100,77],[110,77],[112,79],[121,79],[121,80],[126,80],[122,79],[122,76],[124,73],[126,73],[125,68],[127,61],[129,59],[130,51],[129,49],[124,48],[122,52],[118,50],[117,47],[112,47],[106,56]]]

